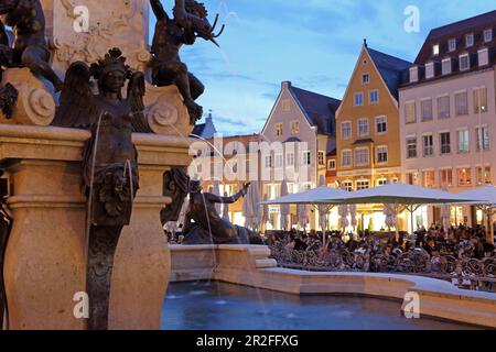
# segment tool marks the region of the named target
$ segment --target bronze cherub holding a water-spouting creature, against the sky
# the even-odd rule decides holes
[[[155,34],[152,42],[152,80],[153,84],[163,87],[176,85],[184,99],[191,124],[195,124],[202,118],[203,108],[195,100],[204,92],[205,87],[187,67],[181,62],[179,52],[185,45],[193,45],[197,37],[212,41],[224,30],[215,35],[214,25],[207,20],[208,12],[203,3],[194,0],[175,0],[173,9],[174,18],[169,18],[160,0],[150,0],[153,13],[157,16]]]

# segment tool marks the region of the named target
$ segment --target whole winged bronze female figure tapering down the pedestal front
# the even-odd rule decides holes
[[[90,78],[98,84],[94,96]],[[122,88],[128,84],[128,97]],[[122,228],[130,222],[139,187],[138,152],[132,132],[145,129],[142,116],[144,79],[132,73],[118,48],[88,67],[74,63],[66,74],[56,119],[60,125],[89,128],[83,158],[83,182],[88,204],[89,329],[107,329],[114,254]]]

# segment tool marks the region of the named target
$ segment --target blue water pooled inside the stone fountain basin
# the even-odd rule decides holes
[[[200,289],[200,287],[202,289]],[[201,293],[201,294],[200,294]],[[472,327],[406,319],[397,301],[285,295],[211,282],[171,284],[164,330],[438,330]]]

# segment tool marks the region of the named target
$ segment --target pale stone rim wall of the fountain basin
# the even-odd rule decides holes
[[[420,298],[421,316],[496,328],[495,294],[463,290],[443,280],[411,275],[312,273],[280,268],[274,262],[267,267],[262,263],[270,261],[269,254],[268,248],[257,245],[171,245],[172,282],[214,279],[296,296],[359,295],[399,302],[407,293],[414,293]]]

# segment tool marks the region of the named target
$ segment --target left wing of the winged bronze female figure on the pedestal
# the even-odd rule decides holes
[[[65,75],[64,89],[53,125],[89,129],[98,122],[99,107],[91,92],[88,65],[76,62]]]

